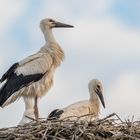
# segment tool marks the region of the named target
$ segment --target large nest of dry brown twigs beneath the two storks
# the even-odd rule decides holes
[[[78,118],[79,119],[79,118]],[[32,121],[23,126],[0,129],[0,140],[139,140],[140,121],[122,121],[113,113],[86,121]]]

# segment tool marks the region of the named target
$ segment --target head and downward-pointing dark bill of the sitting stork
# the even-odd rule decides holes
[[[93,79],[89,82],[89,92],[90,94],[97,94],[103,107],[105,108],[105,102],[103,97],[103,86],[102,83],[98,79]],[[94,97],[94,95],[92,95]]]

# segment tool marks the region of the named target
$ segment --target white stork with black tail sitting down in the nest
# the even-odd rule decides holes
[[[100,113],[100,102],[105,108],[105,102],[102,94],[102,84],[98,79],[93,79],[88,84],[90,98],[89,100],[79,101],[63,109],[55,109],[48,115],[48,120],[75,120],[81,117],[81,120],[96,119]],[[99,98],[99,99],[98,99]]]

